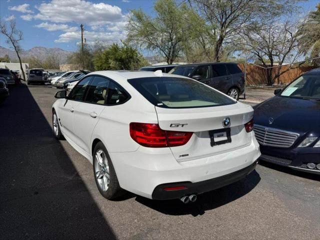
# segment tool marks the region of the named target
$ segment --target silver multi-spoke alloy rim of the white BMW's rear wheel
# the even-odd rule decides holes
[[[100,190],[106,191],[110,183],[109,164],[102,149],[97,149],[94,155],[94,177]]]

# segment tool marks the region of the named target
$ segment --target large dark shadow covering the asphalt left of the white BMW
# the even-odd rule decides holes
[[[116,238],[26,85],[0,119],[0,238]]]

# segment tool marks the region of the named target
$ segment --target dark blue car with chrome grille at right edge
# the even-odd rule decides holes
[[[320,68],[256,105],[254,132],[264,161],[320,174]]]

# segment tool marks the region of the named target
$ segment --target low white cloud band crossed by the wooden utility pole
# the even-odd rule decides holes
[[[101,41],[106,43],[119,42],[120,39],[125,37],[122,32],[95,32],[85,31],[84,38],[86,43],[91,44],[95,41]],[[81,33],[79,31],[65,32],[59,35],[59,38],[54,40],[55,42],[70,42],[73,40],[81,39]]]

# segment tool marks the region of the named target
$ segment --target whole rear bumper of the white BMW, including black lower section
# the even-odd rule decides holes
[[[183,162],[176,161],[169,148],[140,146],[136,151],[109,155],[123,189],[151,199],[172,199],[212,190],[244,177],[254,168],[260,150],[252,138],[246,147]],[[162,184],[176,182],[188,183],[188,191],[171,191],[172,195],[161,196]]]

